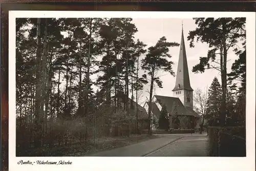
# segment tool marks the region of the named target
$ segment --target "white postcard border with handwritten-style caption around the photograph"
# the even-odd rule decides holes
[[[246,17],[247,157],[15,157],[15,18],[16,17],[132,17],[192,18]],[[19,160],[72,161],[72,165],[18,165]],[[255,170],[255,13],[253,12],[121,12],[121,11],[9,11],[9,170]]]

